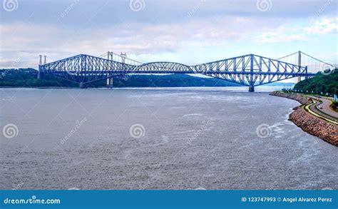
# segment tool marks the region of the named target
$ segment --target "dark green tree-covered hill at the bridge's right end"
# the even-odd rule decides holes
[[[338,93],[338,69],[317,73],[316,76],[296,83],[295,90],[312,93]]]

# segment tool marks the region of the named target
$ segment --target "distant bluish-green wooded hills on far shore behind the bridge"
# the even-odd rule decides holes
[[[78,83],[46,75],[36,78],[37,71],[33,68],[0,69],[0,86],[8,87],[78,87]],[[105,87],[106,80],[91,83],[90,87]],[[237,83],[217,78],[200,78],[185,74],[168,75],[127,75],[113,78],[115,87],[188,87],[188,86],[241,86]]]

